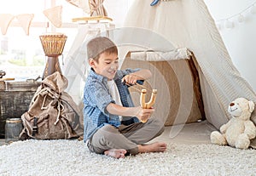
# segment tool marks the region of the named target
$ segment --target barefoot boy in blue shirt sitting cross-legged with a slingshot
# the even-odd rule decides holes
[[[128,84],[151,77],[148,70],[119,71],[118,49],[108,37],[87,44],[90,73],[84,86],[84,142],[90,151],[124,158],[125,154],[162,152],[166,143],[144,145],[159,136],[163,122],[149,118],[154,109],[134,107]],[[139,122],[148,120],[148,122]]]

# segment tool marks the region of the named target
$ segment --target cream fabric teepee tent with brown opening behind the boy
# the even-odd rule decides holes
[[[203,0],[150,3],[134,1],[124,27],[97,35],[117,44],[121,69],[141,67],[153,72],[145,86],[158,89],[154,116],[166,125],[206,118],[219,128],[230,119],[230,101],[244,97],[256,102],[253,88],[233,65]],[[86,42],[90,37],[77,38],[74,45],[81,47],[70,51],[64,71],[72,82],[70,94],[75,93],[73,88],[83,88],[84,72],[89,68]],[[131,94],[138,104],[139,93],[131,88]],[[256,123],[255,114],[252,120]]]

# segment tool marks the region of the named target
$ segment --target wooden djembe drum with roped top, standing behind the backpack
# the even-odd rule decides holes
[[[63,52],[67,36],[61,33],[49,33],[39,37],[44,48],[44,54],[48,57],[42,77],[42,79],[44,79],[55,71],[61,73],[58,57]]]

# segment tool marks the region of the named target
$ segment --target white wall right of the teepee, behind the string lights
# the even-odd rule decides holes
[[[251,8],[248,8],[253,3],[256,6],[256,1],[205,0],[205,3],[218,24],[220,35],[223,37],[234,65],[256,92],[256,13],[252,14]],[[243,10],[245,11],[241,13]],[[245,17],[241,23],[237,20],[239,13]],[[230,18],[233,15],[234,17]],[[225,22],[229,18],[234,22],[232,28],[225,27]]]

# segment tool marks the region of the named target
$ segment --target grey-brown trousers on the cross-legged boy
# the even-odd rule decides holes
[[[93,134],[87,146],[90,151],[98,154],[110,149],[125,149],[131,155],[136,155],[137,145],[143,145],[163,132],[164,123],[156,118],[150,118],[145,123],[120,125],[119,128],[105,125]]]

